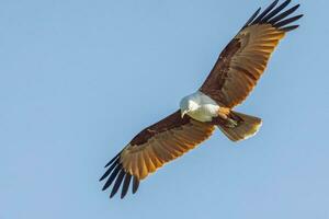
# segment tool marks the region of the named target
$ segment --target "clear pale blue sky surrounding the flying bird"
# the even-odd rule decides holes
[[[178,108],[258,7],[239,0],[1,0],[0,218],[329,218],[328,12],[302,3],[238,111],[263,118],[109,199],[103,165]]]

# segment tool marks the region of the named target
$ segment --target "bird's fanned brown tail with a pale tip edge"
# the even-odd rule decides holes
[[[218,125],[218,128],[232,141],[245,140],[257,134],[262,119],[230,111],[228,123]]]

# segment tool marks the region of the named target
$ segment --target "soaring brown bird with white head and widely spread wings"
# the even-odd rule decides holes
[[[201,88],[184,96],[179,108],[160,122],[143,129],[106,165],[100,181],[103,191],[112,186],[110,198],[122,187],[124,198],[132,186],[163,164],[183,155],[208,139],[216,128],[231,141],[256,135],[262,119],[234,111],[241,104],[263,74],[279,42],[299,25],[303,14],[292,15],[291,0],[273,1],[259,8],[220,53]]]

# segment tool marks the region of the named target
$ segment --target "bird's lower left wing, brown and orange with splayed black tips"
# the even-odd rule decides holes
[[[113,158],[101,181],[107,178],[103,189],[114,181],[110,197],[122,186],[122,198],[126,195],[133,177],[133,193],[138,188],[140,180],[155,172],[164,163],[183,155],[206,140],[215,127],[192,119],[181,118],[180,111],[171,114],[152,126],[145,128]]]

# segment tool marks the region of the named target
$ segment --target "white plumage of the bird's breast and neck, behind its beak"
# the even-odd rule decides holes
[[[197,91],[189,95],[188,99],[197,104],[197,107],[188,113],[192,118],[200,122],[211,122],[213,117],[218,116],[219,106],[213,99],[204,93]]]

